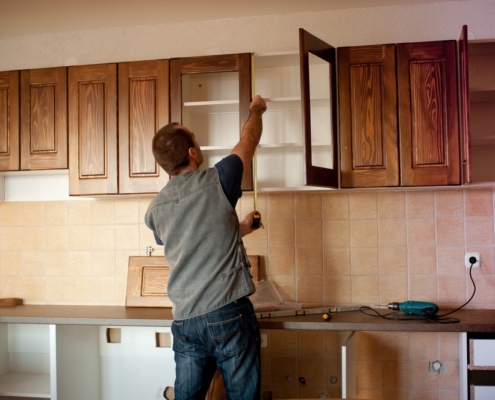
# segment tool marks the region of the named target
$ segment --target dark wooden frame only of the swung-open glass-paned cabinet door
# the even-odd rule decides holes
[[[311,140],[311,93],[309,53],[329,64],[331,132],[333,145],[333,168],[313,165]],[[339,187],[338,128],[337,128],[337,63],[336,50],[311,33],[299,28],[299,57],[301,71],[301,108],[303,124],[304,185]],[[322,83],[324,84],[324,83]]]

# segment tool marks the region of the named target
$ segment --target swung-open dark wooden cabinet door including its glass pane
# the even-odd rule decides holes
[[[336,50],[301,28],[299,53],[304,185],[338,188]],[[322,70],[328,83],[320,79]],[[318,126],[311,125],[312,117]]]

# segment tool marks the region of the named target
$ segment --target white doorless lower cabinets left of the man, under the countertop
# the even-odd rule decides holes
[[[170,328],[0,324],[0,399],[163,399]]]

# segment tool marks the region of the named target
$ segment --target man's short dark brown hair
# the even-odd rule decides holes
[[[160,167],[169,175],[177,175],[189,164],[189,149],[195,147],[191,134],[171,122],[161,128],[153,137],[153,156]]]

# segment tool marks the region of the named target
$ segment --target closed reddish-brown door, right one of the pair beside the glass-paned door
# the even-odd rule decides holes
[[[460,184],[456,42],[399,44],[401,185]]]

